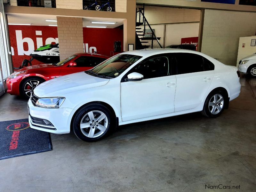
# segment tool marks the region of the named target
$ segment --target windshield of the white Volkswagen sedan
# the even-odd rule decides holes
[[[139,60],[141,56],[120,54],[112,57],[109,60],[102,62],[97,67],[93,68],[88,73],[95,76],[106,76],[115,78],[123,73],[128,67]]]

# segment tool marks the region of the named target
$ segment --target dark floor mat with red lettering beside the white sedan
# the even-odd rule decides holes
[[[0,122],[0,160],[51,150],[50,133],[30,128],[28,119]]]

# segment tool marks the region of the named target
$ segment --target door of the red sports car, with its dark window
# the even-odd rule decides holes
[[[99,58],[99,57],[91,57],[91,56],[80,56],[71,60],[70,62],[76,62],[76,66],[67,66],[65,69],[61,70],[61,75],[67,75],[71,73],[77,73],[81,71],[89,70],[96,65],[100,64],[106,59]]]

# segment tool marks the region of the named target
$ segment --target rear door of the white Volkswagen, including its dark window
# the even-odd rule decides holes
[[[194,53],[175,53],[177,85],[175,112],[196,108],[212,83],[214,65]]]

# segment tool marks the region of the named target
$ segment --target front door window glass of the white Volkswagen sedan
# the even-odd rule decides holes
[[[142,74],[143,79],[168,76],[170,75],[169,60],[165,56],[146,59],[133,68],[132,72]]]

